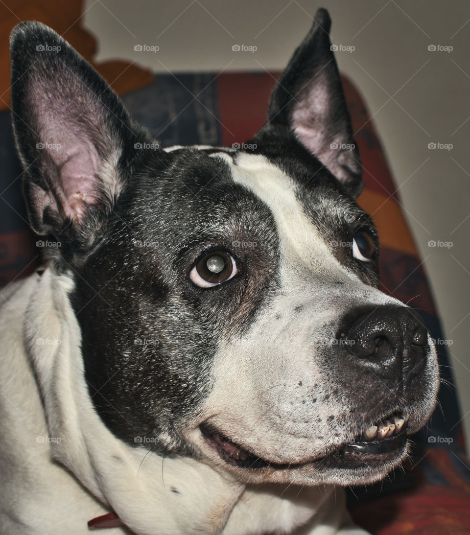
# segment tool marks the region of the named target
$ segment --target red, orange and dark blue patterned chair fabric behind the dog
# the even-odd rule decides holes
[[[123,96],[134,118],[162,146],[231,146],[250,139],[266,119],[278,73],[157,75]],[[357,90],[344,80],[355,139],[364,167],[359,204],[381,237],[382,289],[419,310],[434,338],[444,339],[420,257],[403,217],[400,197]],[[27,225],[20,191],[20,165],[13,150],[10,119],[0,113],[0,284],[26,276],[39,264],[36,238]],[[463,449],[460,411],[445,346],[438,345],[439,402],[427,427],[415,435],[416,448],[405,473],[367,488],[354,488],[355,520],[380,535],[470,533],[470,479]],[[435,440],[433,442],[433,440]]]

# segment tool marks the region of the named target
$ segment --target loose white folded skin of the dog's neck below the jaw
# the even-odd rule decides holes
[[[36,277],[25,338],[41,387],[49,437],[55,439],[51,455],[114,511],[93,518],[94,529],[112,523],[138,534],[160,526],[163,533],[230,535],[249,521],[253,533],[263,533],[266,521],[253,525],[259,521],[251,518],[253,506],[272,509],[273,529],[279,521],[293,528],[308,522],[333,495],[332,487],[296,487],[287,492],[269,485],[247,488],[229,473],[192,458],[163,458],[117,439],[97,415],[87,392],[81,333],[69,301],[73,277],[57,274],[52,266]],[[38,345],[38,332],[60,343]],[[168,514],[181,508],[185,515]]]

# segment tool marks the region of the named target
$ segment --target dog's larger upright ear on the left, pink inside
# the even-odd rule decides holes
[[[135,126],[100,75],[39,22],[11,34],[12,120],[24,193],[38,234],[90,247],[126,187]]]

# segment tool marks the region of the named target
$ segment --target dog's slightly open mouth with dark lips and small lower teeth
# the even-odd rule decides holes
[[[335,464],[363,464],[367,462],[384,462],[391,456],[404,450],[407,441],[407,420],[401,414],[392,414],[370,425],[351,442],[335,447],[328,455],[312,458],[302,463],[274,463],[258,457],[248,449],[239,446],[222,432],[210,425],[202,424],[201,432],[207,444],[213,448],[226,463],[240,468],[260,469],[294,469],[306,464],[324,460]]]

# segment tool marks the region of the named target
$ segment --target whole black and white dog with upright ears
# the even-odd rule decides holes
[[[365,533],[340,487],[403,460],[438,367],[377,289],[329,30],[319,10],[249,150],[164,150],[56,33],[14,29],[14,133],[50,247],[2,293],[2,535],[111,511],[110,533]]]

